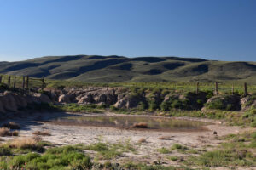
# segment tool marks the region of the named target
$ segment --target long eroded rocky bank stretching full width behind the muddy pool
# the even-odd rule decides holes
[[[44,94],[16,94],[14,92],[5,91],[0,93],[0,112],[18,111],[20,108],[25,108],[32,103],[56,103],[68,104],[77,103],[79,105],[113,105],[119,109],[131,109],[142,104],[160,105],[165,103],[172,106],[186,107],[179,109],[199,110],[206,109],[205,104],[214,104],[218,100],[224,105],[224,108],[231,105],[230,110],[237,111],[247,109],[251,105],[256,107],[256,97],[248,95],[241,98],[237,95],[215,95],[207,99],[207,93],[200,94],[189,93],[186,95],[169,94],[163,92],[143,92],[139,94],[131,93],[131,90],[126,88],[83,88],[83,89],[44,89]],[[175,105],[174,105],[175,103]]]

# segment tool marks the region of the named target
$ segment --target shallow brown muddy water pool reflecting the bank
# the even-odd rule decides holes
[[[136,130],[157,131],[206,131],[207,122],[196,122],[166,117],[143,116],[68,116],[58,117],[49,123],[70,126],[117,127]],[[144,123],[147,128],[134,128],[136,123]]]

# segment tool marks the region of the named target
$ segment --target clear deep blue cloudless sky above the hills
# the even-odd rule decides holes
[[[256,0],[0,0],[0,61],[73,54],[256,61]]]

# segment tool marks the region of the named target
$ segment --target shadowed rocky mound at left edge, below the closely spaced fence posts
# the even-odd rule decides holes
[[[5,91],[0,93],[0,113],[8,111],[18,111],[20,108],[26,108],[33,103],[50,103],[51,100],[45,94],[17,94]]]

